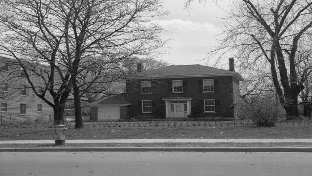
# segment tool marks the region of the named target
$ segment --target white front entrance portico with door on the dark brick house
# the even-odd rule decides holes
[[[166,103],[166,118],[186,118],[191,114],[192,98],[163,98]]]

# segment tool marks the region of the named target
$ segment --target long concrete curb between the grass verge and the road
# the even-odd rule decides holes
[[[312,152],[311,147],[230,147],[230,148],[0,148],[0,152]]]

